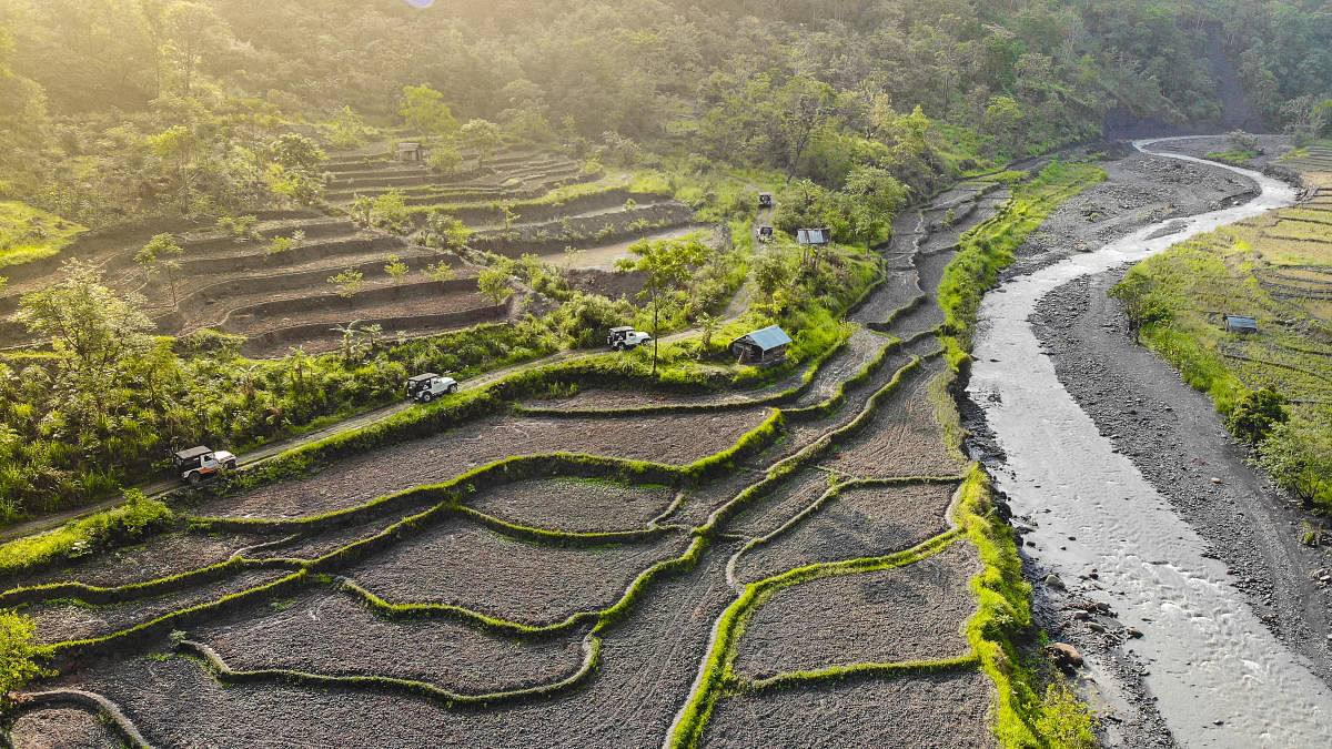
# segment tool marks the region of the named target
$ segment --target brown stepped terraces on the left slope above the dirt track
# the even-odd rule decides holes
[[[95,232],[60,257],[96,264],[116,292],[141,293],[163,335],[214,328],[246,336],[241,353],[265,359],[293,348],[330,351],[341,341],[336,328],[353,321],[380,325],[389,337],[410,337],[509,316],[507,301],[496,304],[478,293],[480,267],[417,245],[413,235],[349,220],[342,209],[356,196],[402,191],[420,225],[434,211],[453,215],[473,229],[472,249],[510,257],[535,253],[566,268],[587,268],[579,287],[611,296],[642,288],[638,279],[610,273],[633,241],[701,229],[693,211],[669,196],[633,192],[625,187],[627,177],[587,172],[554,153],[502,153],[485,167],[466,163],[456,175],[386,155],[334,156],[326,169],[326,212],[261,212],[242,236],[197,224]],[[172,232],[184,255],[178,271],[148,275],[135,256],[160,232]],[[567,255],[570,247],[579,252]],[[406,276],[388,272],[390,255],[406,265]],[[56,260],[7,271],[12,283],[0,296],[0,348],[31,343],[13,315],[23,293],[59,279]],[[441,261],[453,268],[442,283],[425,275]],[[350,297],[329,281],[344,271],[361,273],[361,289]]]

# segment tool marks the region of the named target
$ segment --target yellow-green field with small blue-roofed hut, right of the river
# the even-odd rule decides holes
[[[1180,243],[1135,267],[1112,292],[1140,340],[1256,448],[1273,478],[1332,510],[1332,211],[1275,211]],[[1225,315],[1257,320],[1228,333]],[[1284,417],[1251,418],[1272,388]],[[1275,416],[1275,418],[1272,418]]]

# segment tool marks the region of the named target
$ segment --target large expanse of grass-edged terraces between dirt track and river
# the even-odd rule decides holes
[[[340,167],[338,189],[445,188]],[[527,401],[9,581],[61,665],[16,741],[991,745],[967,466],[927,386],[920,280],[948,257],[888,265],[847,345],[782,388]],[[607,402],[634,410],[554,413]],[[550,453],[583,457],[503,462]]]

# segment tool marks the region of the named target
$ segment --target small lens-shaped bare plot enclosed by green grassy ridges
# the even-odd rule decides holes
[[[637,530],[675,500],[670,486],[557,478],[518,481],[473,496],[468,505],[517,525],[547,530]]]

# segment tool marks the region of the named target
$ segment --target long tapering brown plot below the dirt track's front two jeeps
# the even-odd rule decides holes
[[[509,456],[578,452],[685,465],[734,445],[769,410],[635,418],[490,417],[442,434],[382,448],[313,476],[201,505],[196,514],[300,517],[438,484]]]

